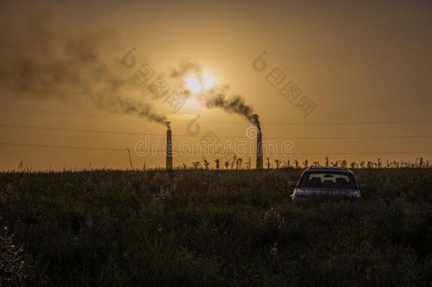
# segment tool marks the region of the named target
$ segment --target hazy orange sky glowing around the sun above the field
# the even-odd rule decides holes
[[[163,144],[166,130],[139,118],[130,106],[138,102],[147,113],[148,104],[152,113],[171,120],[176,143],[195,145],[208,132],[220,142],[245,137],[251,123],[241,116],[208,109],[195,97],[173,113],[164,98],[154,99],[148,86],[133,81],[142,64],[154,69],[154,80],[169,79],[182,62],[199,64],[214,84],[229,84],[227,95],[243,96],[261,118],[264,140],[293,143],[292,156],[271,159],[432,157],[432,137],[425,137],[432,135],[431,1],[2,1],[0,6],[0,169],[15,169],[21,160],[35,169],[90,162],[128,167],[126,148],[135,167],[163,165],[161,152],[145,157],[134,152],[144,135],[150,144]],[[135,65],[127,68],[119,63],[129,51]],[[256,72],[253,62],[263,51],[267,67]],[[267,77],[275,68],[285,79],[273,87]],[[107,79],[115,97],[100,93]],[[279,94],[290,81],[301,90],[291,103]],[[316,105],[308,116],[295,106],[303,96]],[[199,133],[196,125],[188,126],[194,118]],[[202,159],[178,156],[174,165]]]

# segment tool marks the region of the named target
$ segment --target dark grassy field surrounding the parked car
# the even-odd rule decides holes
[[[301,172],[2,173],[0,285],[432,284],[432,169],[293,204]]]

